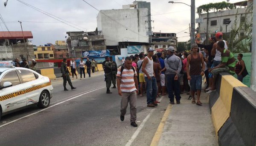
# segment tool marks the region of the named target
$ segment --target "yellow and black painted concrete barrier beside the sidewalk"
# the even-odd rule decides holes
[[[235,77],[221,73],[209,107],[220,146],[256,145],[256,92]]]

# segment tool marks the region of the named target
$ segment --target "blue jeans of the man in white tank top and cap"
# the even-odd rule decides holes
[[[148,77],[144,77],[147,83],[147,103],[153,103],[157,97],[157,80],[156,77],[151,77],[151,80],[148,80]]]

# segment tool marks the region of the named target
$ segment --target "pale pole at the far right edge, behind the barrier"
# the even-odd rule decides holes
[[[256,0],[253,0],[253,40],[252,40],[252,66],[251,66],[251,86],[256,91]]]

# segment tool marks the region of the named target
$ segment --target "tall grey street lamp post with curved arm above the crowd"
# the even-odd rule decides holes
[[[174,1],[169,1],[168,3],[181,3],[181,2],[174,2]],[[191,5],[188,5],[186,3],[182,3],[182,4],[185,4],[187,6],[190,6],[191,7],[191,35],[190,35],[190,40],[191,40],[191,47],[192,47],[192,44],[195,43],[195,0],[191,0]]]

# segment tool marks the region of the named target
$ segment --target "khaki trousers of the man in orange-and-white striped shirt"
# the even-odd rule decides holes
[[[121,100],[121,115],[125,116],[126,109],[128,106],[128,102],[130,103],[130,114],[131,114],[131,122],[135,122],[137,119],[137,93],[136,90],[133,92],[122,92],[122,100]]]

